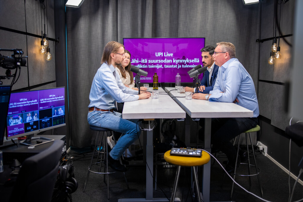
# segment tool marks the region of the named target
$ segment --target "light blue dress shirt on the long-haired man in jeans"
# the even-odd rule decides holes
[[[115,77],[113,75],[114,71]],[[115,108],[115,101],[128,102],[138,99],[138,91],[125,87],[115,67],[103,63],[92,82],[88,108],[113,109]]]

